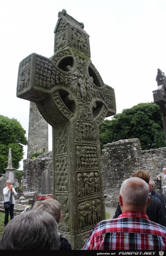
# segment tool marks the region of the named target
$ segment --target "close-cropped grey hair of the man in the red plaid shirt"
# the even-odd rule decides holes
[[[123,181],[120,194],[123,202],[126,204],[146,205],[149,196],[149,186],[144,180],[132,177]]]

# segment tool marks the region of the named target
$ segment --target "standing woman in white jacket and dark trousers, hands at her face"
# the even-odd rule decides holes
[[[9,213],[10,213],[10,221],[14,218],[14,203],[15,203],[15,196],[17,196],[17,192],[13,188],[11,184],[11,180],[6,180],[6,188],[3,189],[4,201],[10,201],[10,209],[5,209],[5,221],[4,225],[6,226],[9,221]]]

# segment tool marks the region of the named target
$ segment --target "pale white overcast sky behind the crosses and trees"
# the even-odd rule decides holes
[[[16,97],[18,66],[33,52],[53,55],[54,28],[62,9],[84,23],[91,61],[104,83],[114,88],[117,113],[153,101],[157,68],[166,73],[165,0],[0,1],[0,114],[17,119],[26,137],[30,102]],[[26,159],[27,147],[24,151]]]

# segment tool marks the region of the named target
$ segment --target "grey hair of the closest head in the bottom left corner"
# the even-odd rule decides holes
[[[57,222],[46,211],[31,210],[19,214],[7,226],[1,237],[0,250],[59,250]]]

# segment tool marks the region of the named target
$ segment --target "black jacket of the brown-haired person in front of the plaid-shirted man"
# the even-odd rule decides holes
[[[148,215],[151,221],[166,227],[165,211],[163,209],[163,205],[161,201],[156,196],[151,196],[149,194],[149,197],[150,197],[150,203],[146,209],[146,214]],[[116,219],[121,213],[122,213],[121,206],[118,203],[113,219]]]

